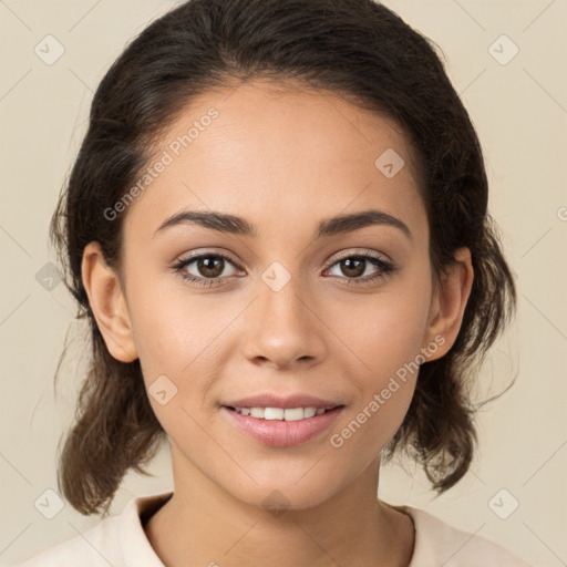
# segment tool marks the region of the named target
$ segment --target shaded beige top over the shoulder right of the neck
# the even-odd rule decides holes
[[[423,509],[392,507],[408,514],[415,528],[414,550],[409,567],[532,567],[498,544],[457,529]]]

